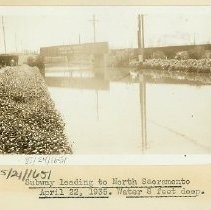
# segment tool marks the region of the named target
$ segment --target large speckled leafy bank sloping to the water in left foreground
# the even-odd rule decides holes
[[[0,70],[1,154],[70,154],[64,127],[36,67]]]

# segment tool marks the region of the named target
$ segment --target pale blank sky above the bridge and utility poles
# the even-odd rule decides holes
[[[0,7],[8,51],[93,41],[89,21],[95,14],[97,41],[111,48],[137,47],[137,15],[145,15],[146,46],[211,43],[209,6],[52,6]],[[16,37],[16,38],[15,38]],[[16,41],[15,41],[16,40]],[[0,52],[3,52],[0,21]]]

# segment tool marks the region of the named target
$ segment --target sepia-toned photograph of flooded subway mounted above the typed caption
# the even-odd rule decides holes
[[[0,154],[210,154],[210,20],[210,6],[1,6]]]

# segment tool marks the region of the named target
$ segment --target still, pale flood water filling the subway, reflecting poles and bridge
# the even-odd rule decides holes
[[[128,72],[47,68],[75,154],[211,153],[211,85]]]

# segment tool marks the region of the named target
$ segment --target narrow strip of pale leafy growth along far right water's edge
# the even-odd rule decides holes
[[[146,59],[142,64],[145,69],[157,70],[181,70],[181,71],[194,71],[194,72],[210,72],[211,60],[210,59]]]

